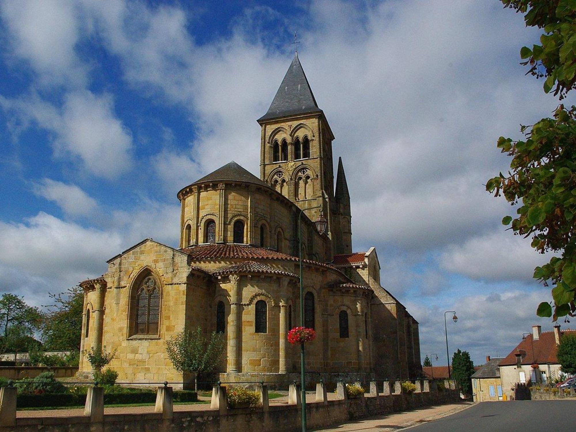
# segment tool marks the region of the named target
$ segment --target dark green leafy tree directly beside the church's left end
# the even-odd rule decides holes
[[[54,305],[49,309],[42,328],[46,350],[79,350],[84,312],[84,291],[75,286],[59,294],[50,294]]]

